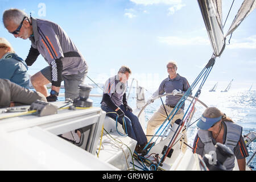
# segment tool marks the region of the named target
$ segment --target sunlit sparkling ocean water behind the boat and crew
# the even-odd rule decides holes
[[[61,90],[64,92],[64,90]],[[102,91],[100,89],[94,88],[91,93],[93,94],[101,94]],[[151,93],[147,93],[145,91],[146,100],[151,96]],[[136,93],[135,91],[131,92],[128,104],[131,107],[136,107]],[[93,106],[100,106],[101,97],[90,97],[93,100]],[[63,98],[64,100],[64,98]],[[165,98],[162,97],[163,102],[165,102]],[[227,115],[227,117],[232,118],[234,122],[243,127],[242,134],[245,135],[250,131],[256,132],[256,90],[252,91],[241,91],[241,90],[229,90],[229,92],[208,92],[208,90],[202,90],[199,100],[204,102],[205,105],[218,107],[223,113]],[[156,100],[151,105],[147,106],[145,109],[146,112],[146,122],[151,117],[152,114],[159,108],[162,104],[160,99]],[[185,110],[187,110],[189,101],[185,102]],[[205,106],[201,105],[199,102],[196,104],[196,112],[193,115],[193,119],[191,123],[195,122],[196,119],[201,117],[205,110]],[[145,123],[145,126],[146,123]],[[193,145],[193,140],[195,139],[197,133],[196,123],[189,127],[187,131],[188,144],[190,146]],[[249,152],[249,157],[246,158],[247,161],[251,158],[254,151],[256,151],[256,141],[251,142],[249,147],[247,147]],[[256,157],[251,160],[249,166],[256,171]]]

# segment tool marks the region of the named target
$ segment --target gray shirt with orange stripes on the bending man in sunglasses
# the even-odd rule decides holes
[[[52,66],[53,79],[56,80],[57,77],[55,60],[60,57],[64,57],[62,75],[77,75],[87,69],[84,57],[59,25],[48,20],[31,19],[33,28],[33,36],[30,36],[31,46],[38,49],[47,63]]]

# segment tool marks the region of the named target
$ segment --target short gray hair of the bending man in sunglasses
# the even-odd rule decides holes
[[[24,16],[28,17],[28,15],[24,11],[19,9],[5,10],[5,12],[3,13],[3,25],[7,27],[8,23],[11,21],[15,24],[20,24]]]

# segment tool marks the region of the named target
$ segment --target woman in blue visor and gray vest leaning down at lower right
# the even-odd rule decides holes
[[[239,169],[245,170],[245,158],[249,156],[249,153],[242,137],[241,126],[226,117],[216,107],[208,107],[196,125],[199,130],[193,143],[193,153],[203,157],[211,151],[216,151],[214,145],[219,142],[234,152],[234,156],[224,162],[226,169],[233,170],[236,156]]]

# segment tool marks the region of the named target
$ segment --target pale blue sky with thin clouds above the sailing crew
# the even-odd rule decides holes
[[[222,3],[222,20],[225,21],[232,0]],[[228,30],[241,3],[234,2],[224,32]],[[105,82],[121,65],[127,65],[133,71],[132,77],[137,78],[145,88],[154,90],[167,77],[167,61],[175,60],[177,72],[192,83],[212,55],[197,1],[0,0],[1,14],[11,7],[63,27],[84,55],[89,65],[88,76],[96,82]],[[253,11],[233,33],[230,45],[226,46],[222,56],[216,59],[205,88],[218,81],[224,89],[232,78],[236,88],[249,89],[252,83],[256,85],[255,22],[256,12]],[[30,40],[15,39],[2,22],[0,36],[9,40],[16,53],[26,59]],[[39,57],[29,73],[33,75],[46,66],[46,61]]]

